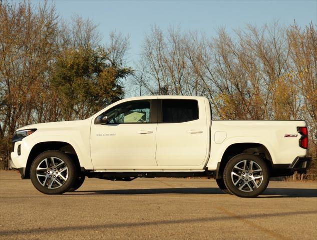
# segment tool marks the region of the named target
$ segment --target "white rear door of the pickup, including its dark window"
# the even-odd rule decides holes
[[[161,99],[156,131],[158,166],[198,166],[207,157],[205,103],[195,99]],[[159,110],[160,111],[160,110]],[[190,169],[190,167],[188,167]]]

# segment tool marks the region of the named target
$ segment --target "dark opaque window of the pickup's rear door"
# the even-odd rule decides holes
[[[196,100],[163,99],[163,123],[188,122],[198,119]]]

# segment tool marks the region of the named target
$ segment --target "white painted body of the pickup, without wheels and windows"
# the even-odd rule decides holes
[[[197,101],[197,118],[163,122],[163,104],[171,100]],[[131,123],[96,123],[105,112],[111,113],[117,106],[137,101],[150,101],[151,109],[125,113],[122,121],[141,119],[149,115],[146,111],[151,113],[149,119]],[[135,97],[113,103],[85,120],[41,123],[18,129],[17,132],[36,131],[23,139],[16,139],[11,166],[28,178],[33,159],[42,150],[59,147],[61,151],[75,154],[82,171],[91,173],[211,171],[216,177],[221,176],[221,162],[228,160],[224,158],[231,156],[233,153],[230,155],[228,151],[232,150],[234,153],[258,152],[269,162],[274,171],[271,175],[289,175],[296,170],[289,170],[294,160],[305,157],[307,153],[307,149],[299,144],[303,135],[297,127],[306,127],[306,123],[212,120],[209,101],[204,97]],[[297,170],[304,171],[306,167],[304,164]],[[278,174],[278,169],[284,171]]]

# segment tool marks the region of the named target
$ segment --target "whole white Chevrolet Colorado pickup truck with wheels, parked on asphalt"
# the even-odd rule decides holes
[[[304,121],[215,121],[204,97],[135,97],[85,120],[18,129],[10,164],[46,194],[74,191],[86,176],[208,176],[255,197],[270,177],[306,171],[307,139]]]

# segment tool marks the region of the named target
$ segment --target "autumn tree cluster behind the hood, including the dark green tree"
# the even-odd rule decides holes
[[[0,4],[0,165],[24,125],[84,119],[123,98],[128,38],[79,16],[63,22],[47,2]]]

